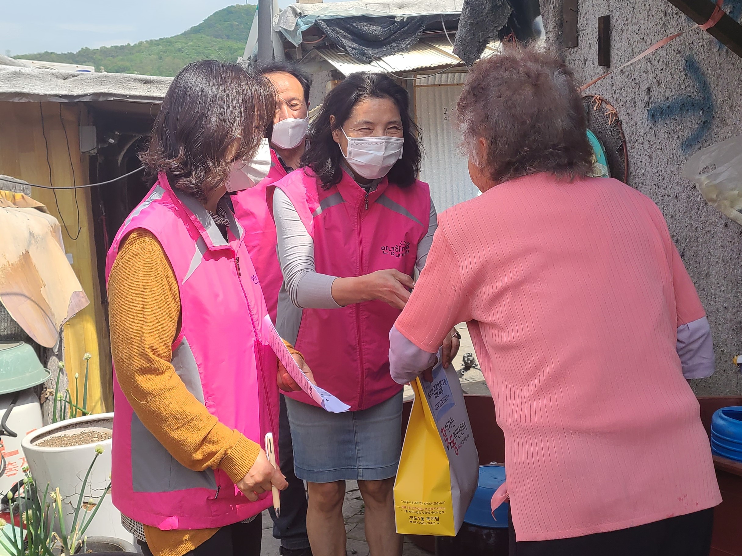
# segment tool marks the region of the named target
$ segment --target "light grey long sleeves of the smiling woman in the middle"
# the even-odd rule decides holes
[[[337,277],[315,271],[315,244],[312,236],[306,231],[289,197],[278,188],[273,195],[273,214],[278,239],[278,261],[283,272],[283,284],[291,302],[298,308],[339,308],[341,305],[332,299],[332,282]],[[438,219],[431,200],[430,224],[417,248],[415,267],[418,272],[425,265],[436,228]]]

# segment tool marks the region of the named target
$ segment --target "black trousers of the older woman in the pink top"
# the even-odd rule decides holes
[[[521,542],[510,520],[508,556],[708,556],[713,522],[707,509],[618,531]]]

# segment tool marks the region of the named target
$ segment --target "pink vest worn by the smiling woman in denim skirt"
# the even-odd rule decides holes
[[[286,193],[312,236],[318,273],[355,277],[395,268],[413,276],[430,221],[426,183],[400,188],[384,178],[366,193],[344,171],[341,182],[325,190],[302,168],[273,187]],[[400,312],[382,301],[298,309],[282,296],[276,326],[301,351],[317,384],[358,411],[402,388],[389,373],[389,331]],[[316,405],[303,392],[286,395]]]

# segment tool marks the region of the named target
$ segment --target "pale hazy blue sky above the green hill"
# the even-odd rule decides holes
[[[279,0],[285,7],[292,0]],[[0,53],[75,52],[182,33],[234,0],[0,0]],[[250,4],[257,4],[252,0]],[[245,37],[247,39],[247,37]]]

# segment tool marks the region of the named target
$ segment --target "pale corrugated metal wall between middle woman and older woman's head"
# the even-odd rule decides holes
[[[417,123],[425,151],[421,179],[430,184],[439,212],[479,194],[469,179],[467,159],[459,153],[459,136],[452,125],[465,76],[441,73],[415,82]]]

